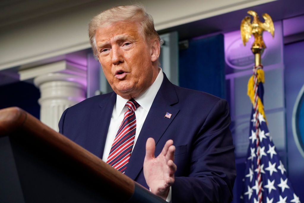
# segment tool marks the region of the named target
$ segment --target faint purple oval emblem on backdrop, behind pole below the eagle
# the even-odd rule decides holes
[[[246,46],[244,46],[241,38],[232,41],[225,53],[226,64],[235,69],[252,68],[254,66],[254,55],[251,52],[253,42],[254,37],[249,39]],[[267,49],[264,49],[261,58],[264,58],[266,52]]]

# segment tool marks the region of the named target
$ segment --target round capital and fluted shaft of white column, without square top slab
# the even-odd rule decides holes
[[[59,131],[61,114],[68,107],[85,99],[86,78],[67,73],[37,76],[34,83],[40,89],[40,121]]]

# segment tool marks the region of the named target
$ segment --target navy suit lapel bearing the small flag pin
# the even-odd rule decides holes
[[[172,105],[178,103],[174,86],[164,74],[164,80],[152,103],[143,127],[137,138],[133,152],[131,154],[125,174],[135,180],[140,170],[143,168],[143,160],[146,152],[146,141],[152,137],[157,145],[159,139],[164,134],[168,126],[178,114],[179,109]],[[171,118],[164,117],[166,113],[172,114]]]

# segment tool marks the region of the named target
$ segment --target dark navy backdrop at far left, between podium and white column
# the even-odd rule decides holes
[[[0,109],[6,107],[20,107],[39,119],[40,98],[39,89],[27,82],[15,82],[0,86]]]

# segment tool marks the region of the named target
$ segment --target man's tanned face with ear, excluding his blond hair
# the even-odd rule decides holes
[[[114,92],[125,99],[139,96],[158,75],[155,48],[137,23],[117,22],[96,31],[98,60]]]

